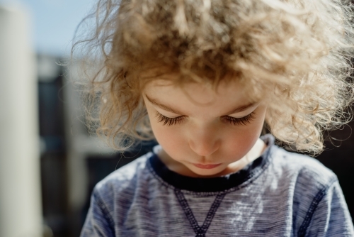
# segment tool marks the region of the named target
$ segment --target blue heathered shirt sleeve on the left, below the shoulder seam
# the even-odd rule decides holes
[[[89,212],[86,216],[80,237],[114,237],[114,221],[100,198],[97,189],[93,189]]]

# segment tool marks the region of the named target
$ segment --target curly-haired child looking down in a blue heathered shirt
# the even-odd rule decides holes
[[[349,3],[106,0],[95,16],[79,44],[103,62],[98,134],[159,145],[96,185],[82,237],[354,236],[336,175],[274,145],[319,153],[348,121]]]

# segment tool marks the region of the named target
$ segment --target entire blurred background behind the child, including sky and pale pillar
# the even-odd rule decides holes
[[[79,236],[93,186],[151,150],[123,158],[89,136],[72,80],[59,66],[91,0],[0,0],[0,237]],[[354,216],[354,123],[319,155]],[[342,140],[342,141],[340,141]]]

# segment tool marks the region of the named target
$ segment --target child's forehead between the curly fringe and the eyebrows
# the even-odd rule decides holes
[[[216,88],[207,84],[186,83],[182,86],[156,79],[147,84],[144,94],[159,103],[185,113],[222,114],[251,101],[239,82],[221,82]]]

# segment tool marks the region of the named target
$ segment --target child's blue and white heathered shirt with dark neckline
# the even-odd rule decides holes
[[[96,184],[81,237],[353,237],[336,175],[263,140],[260,158],[222,177],[185,177],[143,155]]]

